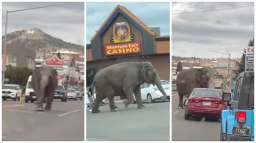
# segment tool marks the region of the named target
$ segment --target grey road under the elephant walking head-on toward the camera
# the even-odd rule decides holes
[[[84,141],[84,101],[55,99],[52,111],[35,109],[30,102],[2,101],[2,140]]]

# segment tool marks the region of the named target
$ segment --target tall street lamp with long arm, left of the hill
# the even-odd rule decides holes
[[[21,9],[21,10],[13,10],[13,11],[8,11],[6,10],[6,20],[5,20],[5,32],[4,32],[4,50],[3,50],[3,55],[5,56],[5,63],[4,65],[6,66],[6,38],[7,38],[7,24],[8,24],[8,13],[12,13],[12,12],[19,12],[19,11],[26,11],[26,10],[34,10],[34,9],[42,9],[42,8],[48,8],[48,7],[52,7],[52,6],[58,6],[58,5],[48,5],[48,6],[40,6],[40,7],[36,7],[36,8],[30,8],[30,9]],[[4,85],[4,73],[5,70],[3,71],[3,79],[2,79],[2,85]]]

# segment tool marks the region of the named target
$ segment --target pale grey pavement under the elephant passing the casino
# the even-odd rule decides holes
[[[100,106],[100,113],[86,112],[87,141],[170,141],[170,102],[144,103],[145,109],[116,103]]]

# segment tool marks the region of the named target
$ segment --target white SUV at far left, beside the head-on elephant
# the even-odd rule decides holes
[[[14,99],[14,101],[19,100],[22,90],[17,84],[4,84],[2,87],[2,99]]]

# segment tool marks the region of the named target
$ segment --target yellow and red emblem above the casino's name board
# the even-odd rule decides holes
[[[130,42],[133,40],[130,26],[126,22],[115,23],[112,29],[112,33],[113,44],[120,42]]]

